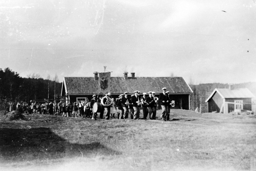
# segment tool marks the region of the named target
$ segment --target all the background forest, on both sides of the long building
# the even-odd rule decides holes
[[[199,112],[207,112],[207,103],[205,102],[215,88],[229,88],[229,84],[208,83],[208,84],[190,84],[191,110],[198,109]],[[233,89],[248,88],[256,96],[256,82],[233,84]],[[0,102],[2,101],[25,101],[30,100],[44,102],[45,100],[58,100],[61,96],[62,83],[59,83],[57,75],[48,75],[43,79],[38,74],[29,75],[28,78],[22,78],[18,73],[10,68],[2,70],[0,68]]]

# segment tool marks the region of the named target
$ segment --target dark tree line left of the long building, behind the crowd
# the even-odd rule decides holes
[[[22,78],[10,68],[0,68],[0,101],[55,100],[61,95],[62,83],[55,75],[43,79],[38,74]]]

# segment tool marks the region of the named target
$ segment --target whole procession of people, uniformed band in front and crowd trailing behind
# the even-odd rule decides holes
[[[110,115],[118,119],[140,119],[140,111],[142,109],[143,119],[156,119],[157,103],[161,106],[160,119],[164,121],[169,120],[171,105],[168,91],[166,87],[162,88],[162,93],[159,97],[155,96],[155,92],[143,93],[140,95],[139,91],[134,91],[134,94],[130,97],[127,92],[120,94],[118,99],[114,101],[114,98],[110,93],[105,94],[104,97],[96,98],[96,95],[92,96],[91,101],[77,101],[74,103],[62,103],[59,101],[37,103],[32,100],[29,103],[26,102],[9,102],[5,106],[5,112],[18,110],[21,113],[40,113],[49,115],[61,115],[66,117],[82,117],[88,119],[97,119],[97,112],[93,112],[93,105],[98,102],[103,104],[101,111],[99,112],[99,118],[103,119],[105,113],[105,119],[109,119]],[[109,102],[112,102],[108,104]],[[114,111],[114,112],[113,112]]]

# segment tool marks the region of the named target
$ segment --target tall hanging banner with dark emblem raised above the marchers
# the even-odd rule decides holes
[[[98,94],[105,95],[108,92],[110,93],[110,85],[111,85],[110,72],[99,73]]]

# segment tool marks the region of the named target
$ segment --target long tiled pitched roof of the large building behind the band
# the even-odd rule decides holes
[[[66,94],[98,93],[98,80],[95,80],[94,77],[64,77],[63,86]],[[135,90],[142,93],[149,91],[161,93],[161,88],[163,87],[166,87],[170,93],[174,94],[193,93],[182,77],[129,77],[129,79],[111,77],[112,94],[124,92],[133,94]]]

